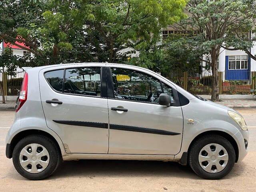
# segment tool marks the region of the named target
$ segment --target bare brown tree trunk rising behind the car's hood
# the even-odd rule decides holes
[[[220,94],[220,84],[219,84],[219,74],[218,74],[218,54],[219,51],[214,50],[211,54],[211,66],[212,66],[212,101],[219,101]]]

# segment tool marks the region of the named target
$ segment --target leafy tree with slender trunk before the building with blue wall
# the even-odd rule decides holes
[[[200,55],[210,54],[211,60],[206,62],[212,68],[213,101],[219,100],[217,60],[220,48],[231,45],[230,42],[244,42],[242,38],[234,41],[232,34],[236,29],[247,29],[254,23],[255,10],[256,4],[252,0],[190,0],[186,7],[188,18],[174,25],[184,35],[180,39],[184,43],[182,46]]]

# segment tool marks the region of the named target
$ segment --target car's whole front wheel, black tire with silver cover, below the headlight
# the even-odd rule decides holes
[[[226,138],[215,134],[198,138],[188,152],[190,167],[205,179],[220,179],[226,176],[232,170],[235,159],[236,153],[232,144]]]

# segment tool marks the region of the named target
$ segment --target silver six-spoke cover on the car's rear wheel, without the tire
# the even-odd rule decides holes
[[[48,150],[37,143],[26,145],[20,151],[20,165],[29,173],[40,173],[50,162]]]

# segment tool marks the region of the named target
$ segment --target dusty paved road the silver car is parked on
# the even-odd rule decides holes
[[[5,137],[14,112],[0,111],[0,192],[254,192],[256,188],[256,110],[239,111],[250,131],[249,153],[222,180],[204,180],[176,162],[80,160],[64,162],[48,179],[20,176],[5,157]],[[165,190],[166,188],[167,190]]]

